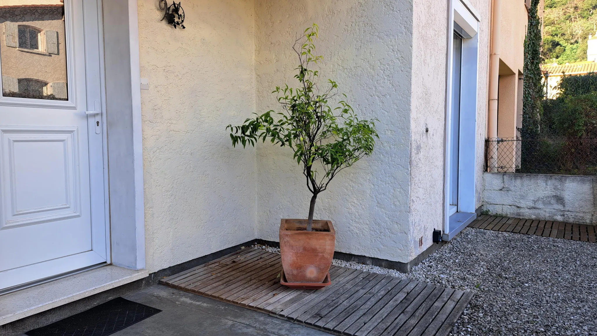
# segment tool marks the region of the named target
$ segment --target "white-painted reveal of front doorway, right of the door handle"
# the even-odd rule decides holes
[[[102,0],[112,263],[145,268],[137,0]]]

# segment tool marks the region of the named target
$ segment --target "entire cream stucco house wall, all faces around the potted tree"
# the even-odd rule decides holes
[[[482,167],[489,7],[472,4],[481,16]],[[278,241],[280,218],[306,218],[310,193],[292,152],[233,149],[224,127],[280,109],[271,91],[297,85],[291,44],[313,22],[322,87],[336,80],[359,117],[378,119],[380,134],[373,155],[319,195],[315,217],[333,221],[341,252],[408,262],[432,244],[443,224],[445,5],[193,0],[184,10],[187,29],[174,30],[159,23],[156,4],[139,1],[141,77],[150,85],[141,91],[148,269],[253,238]]]

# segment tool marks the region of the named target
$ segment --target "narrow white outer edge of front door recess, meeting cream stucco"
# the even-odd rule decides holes
[[[131,55],[131,98],[133,107],[133,162],[137,269],[145,268],[145,207],[143,193],[143,134],[141,132],[141,65],[139,60],[139,13],[137,0],[128,0],[128,33]]]

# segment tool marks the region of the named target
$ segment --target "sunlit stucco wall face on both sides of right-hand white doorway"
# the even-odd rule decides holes
[[[457,1],[457,0],[454,0]],[[470,1],[479,14],[479,63],[477,78],[476,167],[483,167],[485,113],[488,88],[488,5]],[[445,93],[448,2],[414,0],[413,74],[410,153],[410,258],[432,245],[433,229],[443,229]],[[443,29],[442,29],[443,28]],[[425,57],[416,57],[424,55]],[[431,70],[432,69],[432,70]],[[426,131],[426,128],[429,131]],[[476,176],[476,207],[481,206],[482,172]],[[423,237],[423,245],[418,240]]]

